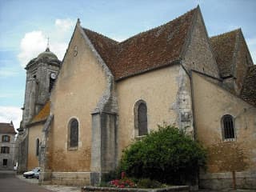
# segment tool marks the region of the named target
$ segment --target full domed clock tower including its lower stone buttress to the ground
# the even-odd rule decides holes
[[[61,61],[54,53],[50,52],[49,46],[25,67],[26,91],[24,106],[22,107],[22,122],[16,140],[18,146],[18,173],[26,171],[27,168],[28,129],[26,129],[26,126],[50,98],[50,91],[54,86],[60,67]]]

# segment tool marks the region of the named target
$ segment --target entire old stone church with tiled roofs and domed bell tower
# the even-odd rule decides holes
[[[20,166],[40,182],[93,185],[166,122],[208,149],[200,187],[256,189],[256,67],[242,30],[209,38],[199,7],[123,42],[78,20],[61,65],[47,49],[26,70]]]

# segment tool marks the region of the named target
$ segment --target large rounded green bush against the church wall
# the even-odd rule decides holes
[[[174,126],[158,126],[123,151],[119,173],[163,183],[184,184],[206,167],[206,150]]]

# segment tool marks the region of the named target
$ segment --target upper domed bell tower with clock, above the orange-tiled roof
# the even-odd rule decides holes
[[[23,107],[22,127],[38,114],[42,106],[50,98],[50,91],[54,86],[60,69],[61,61],[57,56],[46,50],[32,59],[26,65],[26,92]]]

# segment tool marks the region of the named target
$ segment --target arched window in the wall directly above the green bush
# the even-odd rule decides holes
[[[135,136],[148,134],[146,102],[139,100],[134,106]]]

